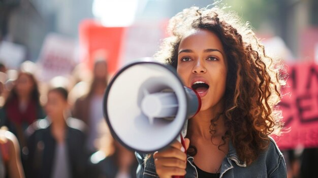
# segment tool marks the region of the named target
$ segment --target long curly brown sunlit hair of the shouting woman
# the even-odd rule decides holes
[[[268,136],[274,130],[279,133],[282,127],[281,112],[276,108],[280,86],[284,84],[279,75],[282,65],[266,55],[248,23],[243,24],[234,12],[226,13],[218,7],[192,7],[171,18],[168,25],[171,35],[164,39],[154,57],[177,68],[183,35],[198,29],[217,35],[228,60],[225,108],[211,119],[211,139],[215,122],[224,115],[228,131],[222,136],[224,143],[220,146],[225,145],[226,137],[230,138],[239,158],[250,164],[268,148]],[[188,154],[194,156],[196,149],[190,148],[193,149],[188,149]]]

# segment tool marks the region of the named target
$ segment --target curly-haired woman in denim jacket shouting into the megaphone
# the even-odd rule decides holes
[[[171,37],[156,54],[198,92],[200,112],[180,143],[150,155],[136,153],[139,177],[286,177],[269,137],[281,127],[279,64],[266,56],[239,18],[217,7],[185,9],[170,20]]]

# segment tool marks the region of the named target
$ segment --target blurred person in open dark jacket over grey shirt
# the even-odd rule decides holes
[[[47,117],[30,125],[26,177],[84,177],[85,124],[69,118],[68,91],[57,87],[47,94]]]

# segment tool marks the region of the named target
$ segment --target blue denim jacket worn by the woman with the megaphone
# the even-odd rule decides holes
[[[144,160],[146,154],[136,152],[136,157],[139,162],[137,168],[137,177],[150,178],[158,177],[155,170],[154,160],[151,156]],[[198,177],[197,169],[193,164],[194,158],[187,155],[186,174],[185,177]],[[229,153],[222,161],[220,169],[220,177],[287,177],[286,164],[283,155],[275,144],[275,141],[270,138],[270,144],[267,151],[261,153],[257,160],[250,165],[239,160],[236,150],[232,143],[229,144]]]

